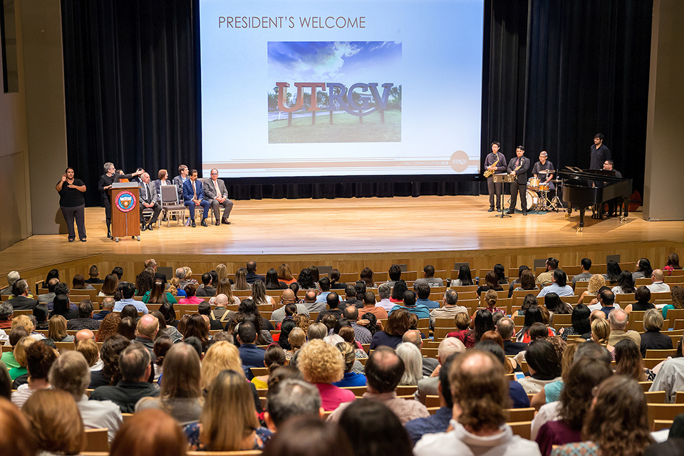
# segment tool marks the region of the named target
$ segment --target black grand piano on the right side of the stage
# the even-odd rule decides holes
[[[578,168],[568,167],[559,170],[558,175],[563,179],[563,201],[568,204],[570,217],[572,209],[579,209],[580,232],[584,228],[584,212],[589,206],[596,205],[592,217],[601,219],[601,207],[603,202],[611,199],[620,199],[623,204],[622,220],[627,218],[629,197],[632,194],[632,180],[616,177],[614,171],[606,170],[579,170]]]

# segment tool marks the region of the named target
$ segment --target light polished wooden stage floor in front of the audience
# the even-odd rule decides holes
[[[619,219],[579,214],[517,213],[500,219],[487,212],[487,196],[361,199],[263,199],[236,201],[219,227],[171,222],[141,241],[106,237],[104,209],[86,209],[88,242],[66,234],[35,235],[0,252],[0,275],[90,254],[303,255],[382,252],[455,252],[549,247],[589,247],[621,242],[681,242],[683,222],[646,222],[641,209]]]

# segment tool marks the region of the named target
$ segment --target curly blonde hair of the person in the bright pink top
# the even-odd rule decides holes
[[[306,381],[333,383],[343,377],[344,358],[336,347],[315,339],[301,348],[297,367]]]

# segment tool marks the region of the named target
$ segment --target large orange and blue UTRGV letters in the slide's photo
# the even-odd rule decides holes
[[[309,111],[315,112],[320,110],[318,108],[318,99],[316,96],[316,89],[328,89],[328,110],[335,110],[335,103],[338,103],[340,108],[351,115],[362,117],[371,113],[375,113],[378,108],[380,110],[387,109],[387,101],[390,97],[390,90],[394,86],[393,83],[383,84],[383,96],[380,97],[378,92],[378,83],[356,83],[347,90],[346,86],[341,83],[294,83],[297,88],[296,102],[294,106],[286,107],[284,100],[286,99],[286,89],[290,86],[289,83],[276,83],[278,87],[278,109],[284,113],[292,113],[300,110],[304,106],[304,88],[311,88],[311,106]],[[371,91],[371,96],[358,95],[354,90],[361,90],[361,92]],[[356,100],[354,95],[357,95]],[[344,100],[346,98],[347,100]],[[375,102],[371,108],[371,99]],[[357,102],[358,100],[358,102]]]

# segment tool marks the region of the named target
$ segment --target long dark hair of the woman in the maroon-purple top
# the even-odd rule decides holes
[[[576,345],[572,345],[576,346]],[[594,358],[579,358],[571,365],[561,390],[559,416],[574,431],[580,431],[591,407],[591,390],[613,375],[611,366]]]

